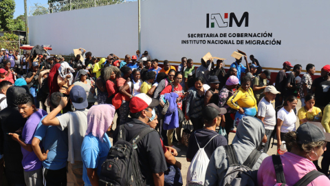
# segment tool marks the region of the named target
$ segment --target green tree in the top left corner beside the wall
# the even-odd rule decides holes
[[[0,30],[7,31],[10,30],[10,23],[14,17],[15,11],[15,1],[14,0],[0,0]]]

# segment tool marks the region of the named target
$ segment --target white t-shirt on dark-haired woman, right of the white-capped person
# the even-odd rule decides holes
[[[287,133],[296,131],[296,121],[297,117],[296,114],[294,114],[294,110],[291,110],[291,112],[287,112],[285,108],[281,108],[281,110],[278,110],[277,118],[281,119],[283,121],[281,132]]]

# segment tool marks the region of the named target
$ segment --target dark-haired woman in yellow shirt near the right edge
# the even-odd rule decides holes
[[[300,125],[307,121],[322,121],[322,111],[315,105],[315,96],[307,94],[305,96],[305,106],[301,107],[298,111],[298,118]]]

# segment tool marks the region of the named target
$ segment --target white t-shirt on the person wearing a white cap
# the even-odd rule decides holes
[[[265,125],[265,130],[274,130],[276,125],[276,111],[272,103],[266,101],[265,97],[259,102],[258,116],[264,118],[263,125]]]

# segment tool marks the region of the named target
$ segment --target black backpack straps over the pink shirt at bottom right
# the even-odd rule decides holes
[[[273,160],[275,173],[276,173],[276,184],[274,186],[287,186],[285,177],[284,177],[281,156],[273,155],[272,160]],[[318,178],[318,176],[322,176],[322,175],[325,175],[325,174],[322,174],[321,172],[318,172],[317,170],[312,170],[311,172],[305,174],[305,176],[303,176],[303,178],[298,180],[298,182],[296,184],[294,184],[293,186],[307,186],[313,180]]]

